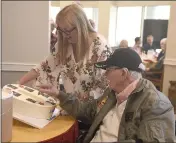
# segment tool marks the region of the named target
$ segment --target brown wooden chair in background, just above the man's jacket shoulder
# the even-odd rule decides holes
[[[154,76],[158,76],[159,78],[155,78]],[[144,73],[144,78],[150,80],[155,87],[162,92],[164,69],[162,71],[147,71]]]

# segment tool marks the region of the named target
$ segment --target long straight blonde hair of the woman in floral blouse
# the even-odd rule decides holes
[[[78,41],[76,43],[76,51],[74,58],[76,62],[84,59],[89,50],[89,33],[95,32],[92,28],[84,10],[78,4],[71,4],[63,8],[56,16],[56,22],[64,21],[70,26],[76,27],[78,33]],[[62,33],[58,32],[58,58],[60,64],[66,63],[69,43]]]

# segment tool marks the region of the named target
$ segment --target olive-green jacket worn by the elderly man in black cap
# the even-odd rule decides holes
[[[98,112],[98,105],[105,97],[108,98]],[[99,99],[87,102],[80,102],[74,95],[63,92],[58,98],[60,106],[69,114],[91,123],[84,143],[92,140],[103,118],[118,102],[110,89],[106,89]],[[174,109],[169,99],[157,91],[150,81],[140,79],[137,88],[127,99],[117,142],[174,142],[174,133]]]

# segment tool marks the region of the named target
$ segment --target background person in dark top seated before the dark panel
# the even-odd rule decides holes
[[[144,44],[143,46],[143,51],[145,54],[147,54],[148,50],[156,50],[156,46],[153,44],[153,40],[154,38],[152,35],[147,36],[147,44]]]

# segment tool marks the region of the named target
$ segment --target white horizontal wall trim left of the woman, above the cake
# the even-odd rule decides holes
[[[2,62],[2,71],[30,71],[37,64]]]

